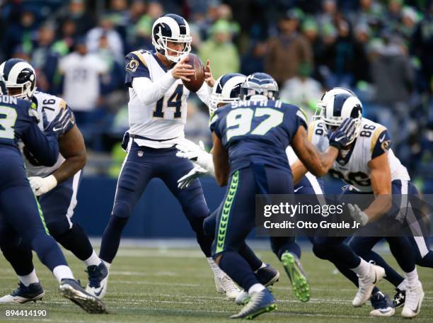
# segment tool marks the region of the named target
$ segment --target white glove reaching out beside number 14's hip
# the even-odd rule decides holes
[[[178,152],[176,153],[177,157],[190,159],[190,161],[202,166],[202,168],[215,176],[212,154],[209,154],[204,150],[204,144],[202,141],[199,142],[199,145],[196,145],[191,140],[185,139],[176,145],[176,149],[178,149]]]

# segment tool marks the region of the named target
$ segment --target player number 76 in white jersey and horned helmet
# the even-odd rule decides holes
[[[49,123],[63,111],[68,111],[69,119],[65,120],[66,127],[59,137],[60,154],[57,162],[50,167],[43,166],[24,147],[25,169],[50,235],[83,261],[89,280],[93,280],[95,276],[105,273],[107,268],[93,250],[83,228],[72,220],[82,169],[86,164],[86,147],[74,122],[74,114],[61,98],[36,91],[35,71],[28,62],[16,58],[7,60],[0,65],[0,74],[6,79],[11,96],[33,102],[39,114],[40,130],[45,130],[42,120]],[[8,232],[0,228],[0,234]],[[21,243],[20,239],[4,239],[4,242],[0,245],[1,251],[17,273],[20,283],[11,295],[1,297],[0,303],[39,300],[45,293],[33,267],[30,246]]]

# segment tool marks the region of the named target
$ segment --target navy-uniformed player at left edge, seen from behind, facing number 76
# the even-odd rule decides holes
[[[6,94],[6,84],[0,76],[0,242],[7,244],[9,239],[16,241],[19,237],[53,273],[64,297],[86,312],[106,312],[105,305],[74,279],[62,251],[48,234],[18,148],[18,140],[22,140],[29,154],[41,164],[54,165],[59,154],[57,137],[68,127],[71,114],[63,108],[45,127],[45,136],[37,125],[40,120],[35,104]]]

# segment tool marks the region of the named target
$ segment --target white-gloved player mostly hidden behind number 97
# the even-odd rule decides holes
[[[239,101],[240,89],[243,81],[246,77],[237,74],[225,74],[221,76],[212,91],[209,105],[209,113],[212,115],[217,108],[224,106],[225,104]],[[214,164],[212,162],[212,154],[207,153],[199,145],[185,140],[184,142],[176,145],[179,150],[177,156],[192,160],[195,162],[195,167],[188,173],[178,180],[179,187],[187,187],[189,183],[204,174],[211,174],[214,176]],[[290,162],[294,162],[297,159],[291,147],[286,149],[287,157]],[[295,193],[299,194],[312,194],[318,195],[323,194],[323,181],[322,179],[316,178],[311,173],[307,173],[306,176],[301,179],[299,183],[294,186]],[[204,221],[204,232],[214,237],[215,233],[215,222],[217,218],[217,210],[212,213]],[[271,237],[271,248],[275,253],[279,261],[282,261],[284,270],[289,276],[289,280],[294,288],[294,294],[302,302],[306,302],[310,298],[310,286],[306,280],[304,268],[301,265],[299,259],[301,258],[301,249],[295,242],[294,237]],[[239,248],[239,254],[248,261],[253,271],[257,273],[260,283],[263,285],[271,285],[279,278],[279,273],[269,265],[265,265],[258,259],[252,250],[245,244]],[[238,304],[244,304],[248,300],[248,293],[243,291],[236,297],[235,302]]]

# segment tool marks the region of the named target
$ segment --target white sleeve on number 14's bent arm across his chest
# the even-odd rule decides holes
[[[139,101],[148,105],[163,97],[164,94],[174,84],[175,78],[169,70],[163,77],[152,82],[147,77],[137,77],[132,80],[132,89],[137,94]]]

